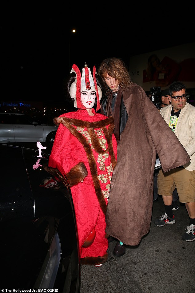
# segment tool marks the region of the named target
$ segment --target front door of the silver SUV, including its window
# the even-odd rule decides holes
[[[43,126],[33,123],[33,119],[27,115],[14,115],[15,142],[43,142]]]

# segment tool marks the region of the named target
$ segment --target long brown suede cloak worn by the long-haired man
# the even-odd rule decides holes
[[[190,158],[140,86],[133,83],[122,96],[129,117],[117,148],[106,233],[126,245],[138,245],[150,229],[156,152],[164,172]]]

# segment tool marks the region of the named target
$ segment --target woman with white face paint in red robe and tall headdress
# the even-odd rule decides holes
[[[97,113],[103,85],[95,67],[93,77],[87,66],[82,76],[75,64],[70,73],[67,88],[78,110],[54,118],[59,127],[49,167],[60,169],[62,166],[70,179],[81,264],[98,266],[108,258],[105,213],[116,165],[117,142],[113,135],[113,118]]]

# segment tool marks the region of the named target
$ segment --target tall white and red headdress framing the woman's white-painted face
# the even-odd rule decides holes
[[[97,85],[97,81],[95,78],[95,75],[97,74],[96,68],[94,66],[93,68],[93,77],[91,75],[90,68],[85,65],[85,67],[82,69],[82,76],[81,72],[78,69],[77,65],[73,64],[72,70],[70,73],[76,73],[76,79],[74,83],[70,86],[70,96],[74,98],[74,107],[79,109],[85,109],[84,105],[81,102],[81,92],[91,89],[96,92],[97,97],[97,107],[96,112],[101,108],[100,107],[100,100],[101,100],[101,88]]]

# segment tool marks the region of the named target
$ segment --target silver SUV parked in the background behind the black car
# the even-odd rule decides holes
[[[57,129],[25,114],[0,113],[0,143],[39,141],[52,146]]]

